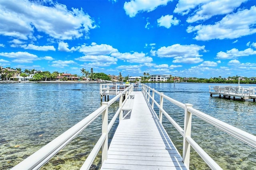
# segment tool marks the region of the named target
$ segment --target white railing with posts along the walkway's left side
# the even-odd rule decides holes
[[[78,122],[76,125],[68,129],[66,132],[62,133],[60,136],[52,140],[50,143],[43,146],[41,149],[36,151],[34,154],[30,155],[28,158],[17,164],[12,168],[12,170],[37,170],[46,164],[55,154],[57,154],[64,146],[66,146],[71,140],[73,140],[80,132],[82,132],[88,125],[90,125],[97,117],[102,115],[102,135],[100,136],[98,142],[95,144],[94,148],[90,152],[89,156],[86,158],[81,169],[90,169],[93,160],[98,154],[100,147],[102,147],[102,162],[107,159],[108,155],[108,132],[111,130],[114,122],[118,115],[122,114],[122,106],[126,103],[133,91],[133,85],[127,87],[116,95],[113,99],[108,102],[102,102],[102,107],[98,108],[96,111],[88,115],[82,121]],[[123,95],[126,99],[123,101]],[[119,99],[119,108],[116,111],[114,117],[108,124],[108,107],[112,105],[115,101]],[[120,119],[122,115],[119,116]]]

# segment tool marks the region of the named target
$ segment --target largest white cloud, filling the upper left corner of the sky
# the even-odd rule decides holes
[[[0,34],[28,40],[35,38],[34,29],[52,38],[72,40],[86,36],[90,29],[96,28],[94,21],[83,10],[68,10],[63,4],[53,2],[44,6],[38,1],[1,0]]]

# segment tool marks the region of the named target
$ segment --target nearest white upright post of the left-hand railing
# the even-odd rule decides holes
[[[102,144],[102,164],[108,158],[108,102],[102,102],[106,111],[102,113],[102,134],[106,133],[106,138]]]

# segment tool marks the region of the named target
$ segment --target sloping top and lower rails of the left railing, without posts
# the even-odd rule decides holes
[[[98,108],[96,111],[88,115],[86,118],[84,118],[82,121],[78,122],[73,127],[69,128],[66,132],[62,133],[60,136],[40,148],[38,151],[34,152],[32,155],[30,155],[28,158],[17,164],[12,168],[12,170],[20,170],[20,169],[26,169],[26,170],[37,170],[40,167],[42,167],[46,162],[48,162],[55,154],[57,154],[64,146],[66,146],[71,140],[73,140],[78,134],[80,134],[88,125],[90,125],[98,116],[100,116],[112,103],[114,103],[116,100],[119,99],[121,95],[127,94],[130,95],[130,93],[133,90],[133,86],[130,86],[126,88],[122,93],[119,93],[116,95],[113,99],[106,102],[105,105],[102,105],[100,108]],[[113,119],[116,119],[118,113],[120,112],[122,108],[119,108]],[[110,124],[107,126],[107,133],[110,131],[110,128],[114,124],[114,121],[110,121]],[[103,133],[96,145],[93,148],[93,152],[90,153],[89,159],[83,164],[82,168],[90,167],[97,151],[100,149],[104,141],[108,140],[106,138],[107,133]]]

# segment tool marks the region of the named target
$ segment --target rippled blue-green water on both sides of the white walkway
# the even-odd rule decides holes
[[[256,135],[256,102],[210,97],[208,86],[214,84],[147,85],[177,101],[190,103],[206,114]],[[0,84],[0,169],[12,168],[100,107],[99,86],[98,83]],[[118,103],[110,107],[109,119],[117,108]],[[184,110],[168,104],[167,101],[164,101],[164,109],[183,128]],[[165,118],[163,124],[182,154],[181,135]],[[117,123],[114,128],[116,125]],[[100,132],[101,117],[42,169],[79,169],[100,137]],[[256,169],[254,148],[246,146],[196,117],[192,117],[192,138],[223,169]],[[191,157],[190,169],[208,168],[194,152]],[[93,163],[94,168],[99,168],[100,162],[100,156],[97,156]]]

